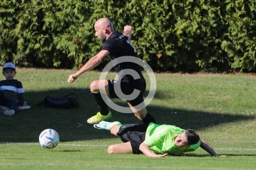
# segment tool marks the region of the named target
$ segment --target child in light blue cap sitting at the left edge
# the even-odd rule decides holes
[[[15,65],[13,63],[5,63],[3,66],[3,75],[6,80],[0,81],[0,105],[10,108],[4,111],[4,115],[6,116],[13,116],[17,108],[24,105],[25,91],[21,82],[13,79],[15,74]]]

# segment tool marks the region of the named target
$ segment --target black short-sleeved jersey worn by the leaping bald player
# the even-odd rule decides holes
[[[118,73],[118,77],[121,81],[128,81],[128,82],[136,82],[136,83],[144,83],[145,79],[141,73],[141,66],[132,63],[132,62],[123,62],[123,63],[114,63],[113,60],[116,58],[124,57],[129,58],[129,56],[138,58],[136,49],[133,47],[132,43],[129,42],[128,37],[124,36],[122,33],[113,33],[109,36],[108,40],[104,42],[102,50],[108,50],[109,52],[109,59],[112,61],[116,73]],[[125,61],[129,61],[129,59],[125,59]],[[132,75],[125,74],[122,70],[131,69],[137,72],[140,75],[140,79],[134,78]]]

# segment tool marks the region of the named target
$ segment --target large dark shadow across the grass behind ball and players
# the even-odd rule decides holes
[[[63,97],[69,93],[76,93],[79,97],[79,108],[54,109],[46,108],[44,105],[36,106],[46,96]],[[146,93],[147,94],[147,93]],[[156,92],[156,97],[161,98],[162,94]],[[86,123],[86,120],[95,115],[99,108],[95,104],[89,89],[58,89],[52,91],[29,91],[26,93],[26,102],[31,109],[17,111],[14,116],[0,114],[0,143],[34,143],[38,142],[38,136],[42,130],[53,128],[60,135],[61,142],[84,141],[93,139],[112,139],[107,130],[98,130]],[[123,100],[116,102],[118,105],[127,107]],[[251,120],[250,116],[217,114],[214,112],[182,111],[179,109],[168,109],[147,106],[159,124],[177,125],[180,128],[193,128],[200,130],[207,127],[230,123],[234,121]],[[141,123],[133,113],[120,113],[112,111],[113,118],[109,121],[120,121],[122,123]],[[174,113],[177,112],[177,114]]]

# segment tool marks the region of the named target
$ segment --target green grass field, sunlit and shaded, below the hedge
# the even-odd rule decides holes
[[[1,68],[2,69],[2,68]],[[149,158],[145,155],[108,155],[110,144],[121,143],[107,130],[97,130],[86,120],[98,112],[90,83],[99,72],[84,73],[73,84],[74,70],[17,69],[26,102],[31,109],[14,116],[0,114],[0,169],[256,169],[256,78],[253,75],[156,74],[157,88],[147,106],[159,124],[193,128],[220,155],[202,149],[184,157]],[[115,73],[108,75],[113,79]],[[148,80],[147,73],[145,78]],[[2,77],[4,79],[4,77]],[[147,86],[147,93],[149,89]],[[78,109],[36,106],[46,96],[79,96]],[[145,97],[147,96],[145,94]],[[113,100],[127,107],[123,100]],[[140,123],[132,113],[113,111],[110,121]],[[60,135],[52,150],[38,136],[45,128]]]

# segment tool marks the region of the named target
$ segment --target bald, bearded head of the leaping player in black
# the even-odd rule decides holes
[[[97,36],[102,43],[106,42],[112,33],[115,33],[113,24],[108,18],[97,20],[94,24],[94,29],[95,36]]]

